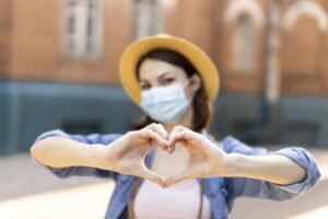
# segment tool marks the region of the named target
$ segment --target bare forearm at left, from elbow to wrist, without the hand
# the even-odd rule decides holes
[[[105,148],[56,136],[37,141],[32,146],[31,153],[42,164],[52,168],[102,168]]]

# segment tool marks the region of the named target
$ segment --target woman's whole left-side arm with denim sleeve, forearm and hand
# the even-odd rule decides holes
[[[155,145],[166,150],[165,129],[151,124],[141,130],[119,135],[68,135],[59,129],[39,136],[31,148],[36,163],[59,177],[71,175],[138,175],[163,184],[163,178],[144,166]]]

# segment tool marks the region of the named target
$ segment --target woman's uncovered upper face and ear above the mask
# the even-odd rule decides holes
[[[172,84],[185,85],[185,94],[191,100],[200,87],[200,78],[195,73],[188,83],[187,73],[178,66],[157,59],[144,59],[139,69],[139,83],[142,91]]]

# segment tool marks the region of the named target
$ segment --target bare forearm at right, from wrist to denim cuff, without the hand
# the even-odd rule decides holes
[[[306,170],[285,155],[230,154],[229,166],[232,176],[250,177],[288,185],[302,182]]]

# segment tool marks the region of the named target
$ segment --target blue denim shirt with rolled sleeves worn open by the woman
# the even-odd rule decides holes
[[[214,138],[203,132],[210,140]],[[60,129],[50,130],[42,134],[36,141],[47,138],[49,136],[63,136],[73,140],[94,145],[109,145],[121,135],[69,135]],[[36,142],[35,141],[35,142]],[[253,148],[239,140],[227,136],[222,140],[223,150],[227,153],[243,153],[248,155],[268,154],[263,148]],[[145,165],[151,166],[155,147],[151,149],[147,155]],[[291,185],[277,185],[274,183],[245,178],[245,177],[210,177],[204,178],[204,195],[210,200],[211,212],[213,219],[225,219],[233,207],[233,203],[237,197],[257,197],[267,198],[271,200],[286,200],[297,197],[313,187],[320,177],[320,172],[316,164],[314,157],[303,148],[291,147],[285,148],[273,153],[283,154],[306,169],[307,176],[303,182]],[[70,166],[70,168],[51,168],[42,165],[34,158],[33,161],[38,166],[48,169],[55,175],[66,178],[72,175],[94,175],[99,177],[110,177],[115,184],[105,219],[124,219],[128,218],[127,205],[130,199],[133,185],[137,177],[133,175],[125,175],[114,171],[101,170],[87,166]],[[200,182],[200,178],[197,178]]]

